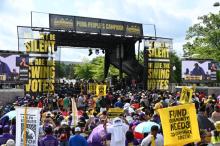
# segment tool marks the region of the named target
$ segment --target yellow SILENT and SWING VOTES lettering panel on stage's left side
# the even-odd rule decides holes
[[[53,93],[55,83],[55,34],[41,33],[39,39],[25,43],[28,58],[26,93]]]

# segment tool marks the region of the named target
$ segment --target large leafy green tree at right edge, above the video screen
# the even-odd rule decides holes
[[[199,23],[187,31],[184,56],[198,54],[197,58],[220,61],[220,11],[201,16],[198,20]]]

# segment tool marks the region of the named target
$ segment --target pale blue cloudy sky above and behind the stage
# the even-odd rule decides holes
[[[31,25],[31,11],[155,24],[157,36],[173,39],[173,49],[183,54],[187,29],[198,16],[216,13],[217,0],[1,0],[0,50],[18,50],[17,26]],[[33,26],[48,26],[47,14],[33,14]],[[152,25],[144,25],[153,35]],[[61,60],[81,62],[88,49],[62,48]]]

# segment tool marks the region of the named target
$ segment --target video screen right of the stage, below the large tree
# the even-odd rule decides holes
[[[182,80],[185,82],[216,81],[216,63],[211,60],[183,60]]]

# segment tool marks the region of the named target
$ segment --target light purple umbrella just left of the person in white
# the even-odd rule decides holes
[[[106,126],[109,126],[110,124],[107,123]],[[104,130],[103,124],[98,125],[96,128],[92,130],[92,133],[89,135],[88,142],[100,142],[101,140],[106,138],[106,131]]]

